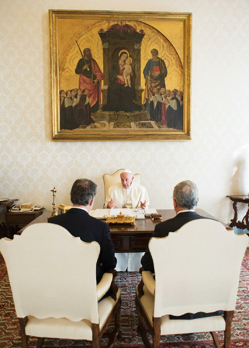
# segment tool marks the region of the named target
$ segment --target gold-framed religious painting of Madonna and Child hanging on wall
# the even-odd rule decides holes
[[[191,139],[191,13],[49,10],[52,140]]]

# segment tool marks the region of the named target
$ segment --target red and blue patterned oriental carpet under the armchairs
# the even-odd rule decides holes
[[[123,338],[114,347],[144,347],[137,333],[138,317],[135,309],[135,286],[140,282],[138,272],[119,272],[116,278],[122,289],[121,330]],[[224,344],[223,332],[218,332],[221,346]],[[101,340],[101,347],[106,344]],[[36,339],[29,339],[29,346],[35,347]],[[88,341],[45,339],[45,348],[84,348],[91,346]],[[0,348],[21,348],[19,324],[10,290],[8,274],[0,254]],[[161,336],[160,348],[211,348],[215,347],[209,333]],[[249,348],[249,249],[242,262],[239,290],[232,322],[231,347]]]

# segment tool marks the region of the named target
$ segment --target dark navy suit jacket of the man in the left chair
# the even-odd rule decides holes
[[[96,265],[97,284],[103,273],[116,267],[117,260],[110,229],[107,223],[92,217],[83,209],[71,208],[65,214],[60,214],[49,219],[49,223],[55,223],[64,227],[74,237],[80,237],[83,242],[96,241],[100,245],[100,254]],[[102,263],[102,266],[100,264]],[[83,265],[82,265],[83,267]]]

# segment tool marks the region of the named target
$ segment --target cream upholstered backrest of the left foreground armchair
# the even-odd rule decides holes
[[[18,318],[67,318],[73,322],[86,319],[99,323],[97,242],[84,243],[61,226],[37,223],[22,235],[15,235],[14,240],[2,238],[0,250]]]

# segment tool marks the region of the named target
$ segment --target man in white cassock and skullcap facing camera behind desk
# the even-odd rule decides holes
[[[120,174],[121,182],[110,186],[104,208],[148,208],[149,197],[146,188],[133,182],[134,176],[128,169]],[[139,271],[144,253],[115,253],[117,271]]]

